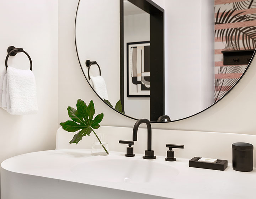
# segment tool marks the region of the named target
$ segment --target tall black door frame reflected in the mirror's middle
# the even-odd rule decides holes
[[[165,115],[164,9],[152,0],[128,0],[150,15],[150,122]],[[120,0],[120,94],[124,104],[124,17]],[[158,66],[158,67],[154,67]]]

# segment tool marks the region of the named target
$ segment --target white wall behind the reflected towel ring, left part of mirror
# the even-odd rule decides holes
[[[76,45],[85,74],[85,61],[97,61],[113,106],[120,99],[119,16],[119,0],[81,0],[76,23]],[[98,67],[92,65],[90,76],[98,75]]]

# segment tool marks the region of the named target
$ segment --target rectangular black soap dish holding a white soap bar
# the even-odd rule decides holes
[[[209,162],[198,162],[201,157],[193,157],[190,161],[188,161],[189,167],[196,167],[196,168],[207,168],[213,170],[220,170],[224,171],[225,168],[228,166],[227,160],[217,160],[216,163],[209,163]]]

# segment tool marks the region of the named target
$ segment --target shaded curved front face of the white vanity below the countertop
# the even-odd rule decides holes
[[[1,199],[64,199],[64,198],[141,198],[167,199],[155,195],[82,184],[54,178],[14,173],[2,169]],[[47,192],[45,191],[47,190]],[[57,194],[56,194],[57,193]]]

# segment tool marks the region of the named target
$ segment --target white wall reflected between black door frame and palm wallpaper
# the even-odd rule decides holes
[[[211,2],[165,2],[165,114],[171,120],[198,113],[214,102]]]

